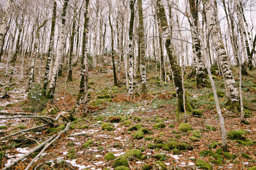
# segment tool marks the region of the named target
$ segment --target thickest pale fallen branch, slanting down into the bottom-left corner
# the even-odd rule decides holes
[[[65,129],[61,132],[58,132],[58,136],[63,134],[64,132],[67,132],[68,129],[70,127],[70,122],[67,123]],[[58,137],[57,136],[57,137]],[[48,138],[46,141],[44,141],[43,143],[41,143],[40,145],[36,146],[35,148],[33,148],[31,151],[29,151],[28,153],[25,153],[24,155],[22,155],[21,157],[15,159],[12,163],[7,164],[2,170],[6,170],[6,169],[10,169],[13,166],[15,166],[18,162],[20,162],[21,160],[25,159],[26,157],[28,157],[29,155],[31,155],[32,153],[36,152],[36,150],[39,150],[40,148],[42,148],[43,146],[47,145],[48,143],[51,143],[52,140],[54,140],[54,138],[56,138],[56,134],[52,135],[50,138]],[[58,137],[60,138],[60,137]],[[57,139],[58,139],[57,138]],[[56,141],[56,139],[54,140]],[[41,153],[42,154],[42,153]]]

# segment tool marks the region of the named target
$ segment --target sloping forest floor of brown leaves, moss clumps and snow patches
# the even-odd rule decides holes
[[[15,83],[10,89],[4,90],[8,77],[4,76],[5,64],[0,64],[0,96],[4,95],[5,90],[11,96],[9,99],[0,99],[0,111],[39,114],[53,106],[60,111],[68,111],[74,106],[79,89],[79,66],[74,67],[73,81],[65,82],[67,74],[59,77],[56,97],[49,102],[40,94],[40,85],[36,84],[38,78],[32,90],[33,95],[26,99],[26,82],[19,81],[18,70],[13,81]],[[219,119],[211,87],[196,89],[195,78],[186,80],[185,89],[196,111],[188,113],[191,127],[185,125],[182,129],[179,126],[184,122],[184,115],[175,111],[176,98],[172,81],[164,83],[156,76],[156,71],[152,71],[147,74],[147,95],[140,95],[139,83],[136,83],[136,95],[129,97],[124,75],[123,85],[113,87],[110,60],[100,67],[103,73],[94,69],[89,73],[88,117],[81,118],[81,113],[76,113],[67,134],[61,136],[35,162],[38,169],[115,169],[118,165],[143,169],[145,164],[153,166],[153,169],[157,169],[157,166],[166,166],[167,169],[248,169],[256,166],[256,80],[252,78],[256,77],[255,70],[250,71],[252,76],[243,76],[244,104],[251,109],[245,110],[248,124],[241,124],[240,113],[232,113],[225,106],[227,97],[223,79],[214,75],[225,126],[229,132],[229,152],[222,152]],[[238,85],[238,68],[232,69]],[[189,71],[188,68],[186,73]],[[39,124],[42,122],[28,118],[0,120],[0,131],[4,132],[0,135]],[[61,129],[63,125],[42,132],[22,133],[0,141],[0,167]],[[243,130],[237,131],[240,129]],[[24,138],[33,140],[27,143],[17,140]],[[113,154],[105,157],[109,152]],[[22,160],[14,169],[24,169],[33,157],[35,154]],[[200,162],[201,159],[209,164]]]

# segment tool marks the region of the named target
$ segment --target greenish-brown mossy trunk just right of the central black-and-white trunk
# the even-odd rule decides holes
[[[146,42],[145,42],[145,34],[144,34],[144,22],[143,22],[143,8],[142,1],[138,0],[138,10],[139,10],[139,40],[140,40],[140,73],[141,73],[141,91],[145,93],[146,83],[147,83],[147,75],[146,75]]]

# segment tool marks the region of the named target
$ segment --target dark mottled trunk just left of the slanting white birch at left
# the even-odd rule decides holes
[[[47,60],[46,60],[46,66],[45,66],[45,73],[44,73],[44,85],[43,85],[43,95],[46,95],[46,90],[48,86],[49,81],[49,71],[51,67],[51,60],[53,56],[53,48],[54,48],[54,34],[55,34],[55,25],[56,25],[56,13],[57,12],[57,3],[54,0],[53,1],[53,8],[52,8],[52,25],[51,25],[51,35],[50,35],[50,41],[49,41],[49,49],[47,53]]]

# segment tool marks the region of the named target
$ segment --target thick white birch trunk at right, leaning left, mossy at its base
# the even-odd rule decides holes
[[[216,49],[217,56],[220,59],[224,80],[227,85],[228,94],[230,96],[230,108],[236,111],[240,107],[236,81],[234,80],[234,76],[230,68],[230,64],[228,62],[228,55],[225,51],[223,42],[219,38],[220,32],[218,31],[218,23],[214,22],[214,14],[212,12],[211,1],[204,0],[203,3],[205,8],[205,17],[207,19],[208,29],[209,32],[211,33],[210,36],[212,40],[212,45]]]

